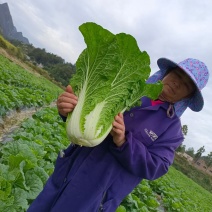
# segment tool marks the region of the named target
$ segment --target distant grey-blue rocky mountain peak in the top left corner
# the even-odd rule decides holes
[[[29,40],[17,32],[7,3],[0,4],[0,34],[7,40],[18,40],[29,44]]]

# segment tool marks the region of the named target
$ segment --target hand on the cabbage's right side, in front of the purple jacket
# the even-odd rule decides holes
[[[120,147],[125,142],[125,124],[122,113],[115,116],[111,135],[116,146]]]

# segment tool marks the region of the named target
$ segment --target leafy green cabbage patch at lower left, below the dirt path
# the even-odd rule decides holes
[[[0,211],[26,211],[52,173],[57,153],[67,146],[55,108],[24,121],[0,147]]]

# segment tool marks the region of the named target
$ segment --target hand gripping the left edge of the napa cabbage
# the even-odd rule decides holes
[[[75,96],[72,87],[68,85],[64,93],[62,93],[57,99],[58,112],[67,117],[68,113],[73,111],[77,104],[77,96]]]

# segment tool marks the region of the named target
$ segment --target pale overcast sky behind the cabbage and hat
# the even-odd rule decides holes
[[[35,47],[45,48],[66,62],[75,63],[85,48],[78,27],[95,22],[114,34],[131,34],[151,59],[180,62],[188,57],[203,61],[212,72],[212,1],[210,0],[0,0],[7,2],[17,31]],[[203,89],[205,106],[182,116],[188,125],[186,148],[203,145],[212,151],[212,78]]]

